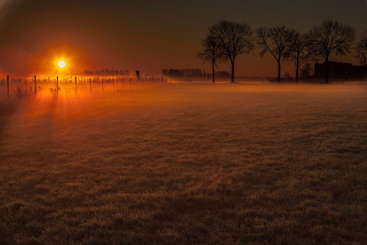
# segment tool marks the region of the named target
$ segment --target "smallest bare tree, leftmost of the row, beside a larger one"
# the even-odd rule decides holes
[[[203,64],[210,62],[213,70],[213,84],[214,84],[214,69],[218,67],[218,63],[225,61],[224,53],[222,52],[221,43],[215,36],[207,34],[205,39],[201,40],[203,46],[202,51],[198,51],[196,56],[203,60]]]

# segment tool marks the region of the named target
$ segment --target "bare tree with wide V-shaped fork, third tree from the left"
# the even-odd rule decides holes
[[[259,55],[264,57],[269,52],[278,62],[278,82],[280,82],[280,62],[287,60],[296,31],[282,25],[274,28],[259,27],[255,32],[257,33],[257,44],[261,48]]]

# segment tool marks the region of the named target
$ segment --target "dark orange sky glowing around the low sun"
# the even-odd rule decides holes
[[[299,32],[336,19],[355,28],[359,39],[366,14],[367,0],[0,0],[0,76],[210,70],[195,54],[208,26],[221,19]],[[61,59],[63,69],[57,67]],[[331,60],[357,64],[353,57]],[[218,70],[230,72],[230,64]],[[282,64],[286,71],[294,76],[294,65]],[[270,54],[242,55],[235,76],[276,77],[277,62]]]

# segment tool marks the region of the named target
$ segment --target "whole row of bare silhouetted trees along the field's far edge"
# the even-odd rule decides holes
[[[335,56],[352,53],[356,40],[356,30],[347,24],[324,20],[310,31],[300,33],[284,25],[268,28],[256,28],[254,31],[247,23],[221,20],[208,27],[206,37],[201,40],[202,50],[196,53],[203,63],[212,64],[212,74],[219,63],[230,62],[232,65],[231,82],[235,81],[235,60],[241,54],[264,57],[271,54],[278,64],[278,82],[280,82],[281,63],[295,64],[296,82],[302,65],[324,60],[326,63],[325,82],[328,78],[328,62]],[[257,47],[255,47],[257,45]],[[259,50],[255,54],[255,48]],[[362,34],[354,47],[355,55],[361,65],[367,65],[367,35]],[[215,76],[212,82],[215,82]]]

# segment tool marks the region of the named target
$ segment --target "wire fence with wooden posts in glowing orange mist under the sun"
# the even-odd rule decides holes
[[[197,78],[163,75],[93,75],[93,76],[0,76],[0,91],[6,99],[19,95],[59,95],[88,92],[138,90],[138,84],[200,82]],[[32,91],[32,92],[31,92]]]

